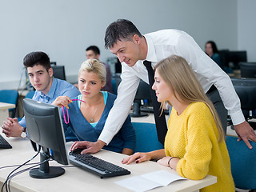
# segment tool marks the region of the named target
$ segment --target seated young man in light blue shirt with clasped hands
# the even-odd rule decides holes
[[[26,66],[30,83],[36,90],[33,100],[60,107],[62,104],[65,105],[68,97],[73,98],[80,94],[79,90],[69,82],[53,77],[54,71],[50,67],[50,58],[46,53],[36,51],[27,54],[23,59],[23,65]],[[25,117],[19,122],[17,118],[7,118],[3,122],[2,133],[7,137],[26,138]]]

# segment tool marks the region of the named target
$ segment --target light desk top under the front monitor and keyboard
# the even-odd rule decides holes
[[[34,156],[35,152],[32,150],[28,139],[6,138],[6,140],[10,142],[13,148],[10,150],[0,149],[0,167],[22,164]],[[70,143],[67,143],[68,149],[70,149],[70,145]],[[78,167],[64,167],[66,173],[58,178],[36,179],[30,178],[28,172],[18,174],[18,176],[12,178],[11,186],[19,189],[19,191],[131,191],[122,186],[118,186],[114,182],[130,178],[132,176],[146,174],[155,170],[168,170],[170,172],[175,172],[174,170],[170,170],[169,167],[158,165],[156,162],[142,162],[140,164],[132,163],[130,165],[123,165],[121,161],[122,158],[126,157],[126,155],[106,150],[102,150],[94,155],[130,170],[131,174],[101,179],[98,176],[90,174],[90,172],[86,172],[86,170],[82,170]],[[35,158],[33,162],[38,162],[38,159],[38,157]],[[61,165],[55,161],[50,161],[50,166]],[[14,170],[14,168],[4,168],[0,171],[0,186],[5,182],[6,176],[10,174],[11,170]],[[152,191],[194,191],[204,186],[209,186],[215,182],[217,182],[217,178],[208,175],[202,180],[177,181],[171,183],[169,186],[158,187]],[[15,191],[15,189],[12,191]]]

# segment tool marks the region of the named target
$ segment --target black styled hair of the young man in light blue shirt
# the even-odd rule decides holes
[[[23,59],[23,65],[27,67],[33,67],[36,65],[43,66],[46,71],[50,69],[50,58],[42,51],[35,51],[27,54]]]

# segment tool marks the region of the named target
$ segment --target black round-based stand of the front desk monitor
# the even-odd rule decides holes
[[[65,170],[59,166],[49,166],[49,151],[40,153],[40,166],[30,170],[31,178],[56,178],[65,173]]]

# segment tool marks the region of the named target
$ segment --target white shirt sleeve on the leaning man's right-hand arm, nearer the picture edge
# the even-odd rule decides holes
[[[178,47],[180,48],[178,50],[181,50],[179,54],[189,62],[202,87],[205,89],[204,84],[209,82],[216,86],[226,110],[230,113],[233,124],[238,125],[244,122],[240,100],[230,77],[202,51],[190,36],[182,36],[179,39]]]

